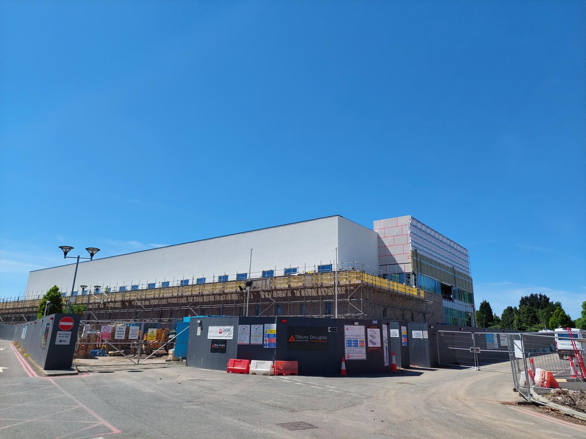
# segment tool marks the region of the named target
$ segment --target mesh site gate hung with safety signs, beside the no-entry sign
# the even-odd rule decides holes
[[[185,328],[180,331],[188,330]],[[81,321],[73,365],[122,366],[165,363],[179,342],[176,323]]]

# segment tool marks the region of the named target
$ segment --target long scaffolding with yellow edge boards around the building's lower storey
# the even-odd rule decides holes
[[[88,305],[86,319],[176,321],[189,315],[246,315],[247,286],[248,315],[334,317],[337,290],[339,318],[421,322],[434,318],[434,303],[425,298],[425,291],[356,269],[202,284],[147,284],[63,300],[66,306]],[[0,321],[33,320],[38,305],[39,299],[0,302]]]

